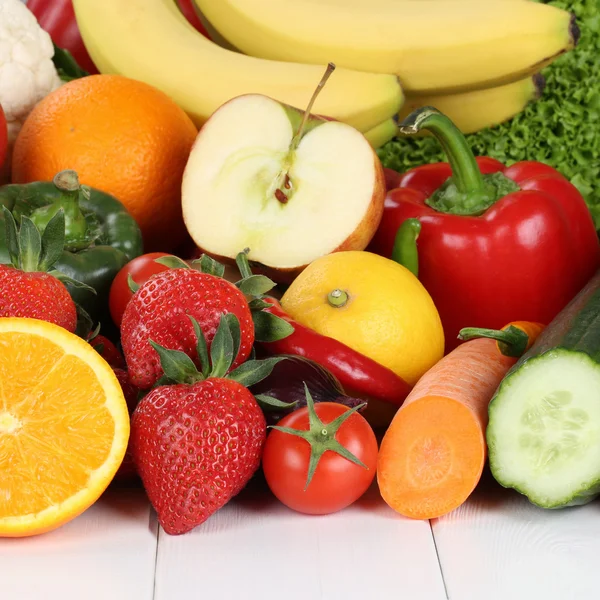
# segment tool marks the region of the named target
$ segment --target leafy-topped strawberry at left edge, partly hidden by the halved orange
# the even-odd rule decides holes
[[[43,234],[26,216],[21,216],[17,232],[12,213],[6,207],[3,212],[12,266],[0,265],[0,317],[40,319],[74,333],[77,309],[63,282],[91,288],[51,268],[64,248],[63,211],[49,221]]]

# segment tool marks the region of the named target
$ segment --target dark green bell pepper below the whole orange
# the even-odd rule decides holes
[[[115,275],[143,253],[142,234],[135,219],[114,196],[80,185],[75,171],[58,173],[53,181],[0,187],[5,206],[17,223],[28,216],[40,233],[63,209],[65,246],[55,268],[96,290],[68,286],[73,300],[94,321],[108,315],[108,295]],[[10,264],[5,218],[0,210],[0,264]]]

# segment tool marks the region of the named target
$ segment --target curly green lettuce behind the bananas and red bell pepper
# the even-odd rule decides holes
[[[600,229],[600,2],[541,1],[575,14],[581,29],[577,47],[543,71],[546,88],[540,100],[467,140],[476,155],[506,165],[536,160],[559,170],[584,196]],[[378,155],[385,167],[399,172],[445,160],[433,137],[396,138]]]

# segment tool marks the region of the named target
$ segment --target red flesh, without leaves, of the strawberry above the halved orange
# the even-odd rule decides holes
[[[67,288],[48,273],[0,265],[0,317],[29,317],[77,328],[77,309]]]

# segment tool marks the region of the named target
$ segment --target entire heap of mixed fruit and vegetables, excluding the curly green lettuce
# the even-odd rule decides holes
[[[194,2],[0,0],[0,536],[111,484],[173,535],[258,476],[305,514],[376,482],[439,517],[488,462],[593,500],[594,219],[465,137],[539,95],[573,15]],[[384,168],[397,136],[444,161]]]

